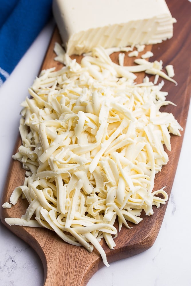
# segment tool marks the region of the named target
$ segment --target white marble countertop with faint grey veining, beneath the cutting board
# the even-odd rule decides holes
[[[27,96],[27,88],[39,72],[52,33],[52,24],[51,22],[44,28],[10,78],[0,88],[1,193],[18,134],[20,103]],[[172,193],[154,245],[139,255],[111,263],[109,268],[102,268],[90,279],[88,286],[191,285],[190,129],[191,110]],[[0,251],[1,286],[43,285],[44,272],[38,255],[2,224]]]

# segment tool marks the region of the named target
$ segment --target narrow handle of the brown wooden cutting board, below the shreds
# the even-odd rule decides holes
[[[46,237],[46,235],[45,235]],[[103,261],[96,249],[90,254],[83,247],[64,243],[48,232],[40,242],[44,266],[44,286],[85,286],[101,267]]]

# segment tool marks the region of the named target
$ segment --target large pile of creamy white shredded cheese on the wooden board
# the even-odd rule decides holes
[[[161,75],[161,62],[137,59],[124,67],[119,57],[117,65],[98,47],[81,64],[65,57],[62,69],[43,70],[35,79],[31,99],[22,103],[23,145],[13,156],[26,178],[10,198],[15,204],[22,194],[29,207],[21,218],[5,219],[54,230],[90,252],[95,247],[106,266],[100,240],[115,247],[116,217],[119,231],[122,224],[129,228],[127,221],[138,224],[142,210],[152,215],[153,205],[168,199],[164,186],[153,191],[155,174],[168,162],[170,133],[182,130],[172,114],[159,111],[172,104],[161,91],[164,82],[135,81],[137,71]]]

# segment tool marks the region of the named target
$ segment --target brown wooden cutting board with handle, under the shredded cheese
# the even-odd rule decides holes
[[[162,111],[172,112],[180,125],[185,129],[191,93],[191,3],[187,0],[167,0],[166,2],[173,17],[177,19],[177,23],[174,24],[174,36],[161,44],[149,45],[146,49],[152,50],[154,53],[151,61],[162,59],[164,67],[167,64],[174,65],[176,74],[174,79],[178,82],[178,86],[165,80],[163,90],[169,92],[167,99],[177,104],[177,107],[169,105],[163,107]],[[42,69],[52,66],[56,66],[56,69],[62,67],[60,63],[54,61],[53,47],[55,41],[61,42],[57,29],[55,29],[52,36]],[[111,57],[113,61],[118,63],[118,53],[114,53]],[[80,57],[77,57],[77,60],[80,61]],[[132,63],[133,59],[126,56],[125,64],[131,65]],[[142,78],[143,74],[139,74],[138,80]],[[183,135],[184,131],[182,132],[182,137],[172,136],[172,151],[168,152],[169,162],[155,178],[154,189],[166,186],[168,195],[171,192]],[[21,140],[18,136],[14,153],[17,152],[20,144]],[[11,160],[1,205],[9,201],[10,195],[16,186],[23,184],[24,176],[25,172],[21,168],[21,164]],[[118,237],[115,239],[116,247],[114,250],[110,250],[105,242],[101,241],[101,245],[107,254],[108,262],[111,263],[127,258],[150,248],[160,230],[166,207],[167,204],[160,206],[158,209],[154,208],[154,215],[144,217],[143,221],[132,229],[122,227]],[[10,231],[27,242],[38,253],[44,266],[44,285],[86,285],[92,275],[104,266],[98,251],[94,249],[92,253],[88,253],[83,247],[68,245],[54,232],[47,229],[9,227],[5,223],[4,219],[6,217],[21,217],[25,213],[26,208],[27,201],[21,199],[10,209],[0,207],[1,221]]]

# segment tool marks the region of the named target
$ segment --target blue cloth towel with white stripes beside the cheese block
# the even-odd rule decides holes
[[[52,17],[52,0],[0,0],[0,86]]]

